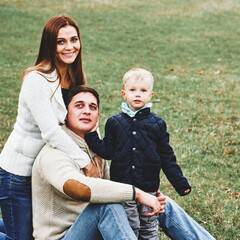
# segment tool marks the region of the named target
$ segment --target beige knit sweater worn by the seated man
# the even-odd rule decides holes
[[[108,177],[108,164],[104,161],[103,178]],[[33,236],[36,240],[59,240],[86,207],[87,203],[75,201],[63,192],[63,185],[69,179],[91,189],[92,203],[123,202],[133,198],[131,185],[86,177],[76,161],[46,145],[32,172]]]

